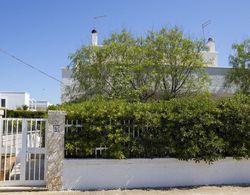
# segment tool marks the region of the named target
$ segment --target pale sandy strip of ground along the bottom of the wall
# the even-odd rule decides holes
[[[250,186],[209,186],[196,188],[148,189],[148,190],[107,190],[85,192],[0,192],[0,195],[250,195]]]

